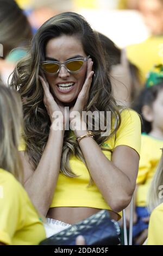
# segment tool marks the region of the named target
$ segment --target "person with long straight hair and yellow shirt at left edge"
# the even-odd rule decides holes
[[[40,215],[34,209],[22,182],[18,155],[22,107],[20,96],[0,85],[0,243],[37,245],[46,238]]]

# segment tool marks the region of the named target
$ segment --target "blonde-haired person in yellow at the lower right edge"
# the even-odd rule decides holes
[[[163,150],[148,194],[149,218],[147,245],[163,245]]]

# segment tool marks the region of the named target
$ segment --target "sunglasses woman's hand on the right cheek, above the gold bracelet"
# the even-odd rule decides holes
[[[74,111],[76,111],[78,115],[80,115],[80,118],[82,117],[82,111],[84,110],[84,107],[86,106],[89,99],[89,90],[91,87],[92,76],[94,74],[94,71],[92,71],[92,65],[93,62],[91,59],[89,59],[87,62],[86,80],[83,84],[83,88],[77,97],[75,105],[70,108],[70,122],[74,119],[74,117],[76,117]]]

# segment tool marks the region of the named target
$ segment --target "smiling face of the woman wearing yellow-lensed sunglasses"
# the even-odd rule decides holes
[[[61,35],[46,45],[46,60],[65,62],[68,59],[87,57],[82,42],[76,36]],[[77,99],[86,78],[87,62],[77,73],[70,73],[61,66],[57,75],[46,74],[51,93],[62,103],[71,103]],[[66,88],[67,87],[67,88]],[[68,104],[67,104],[68,105]]]

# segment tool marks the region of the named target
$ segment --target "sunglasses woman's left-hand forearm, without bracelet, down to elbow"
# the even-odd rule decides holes
[[[64,131],[49,132],[39,165],[24,184],[36,209],[46,216],[57,184]]]

